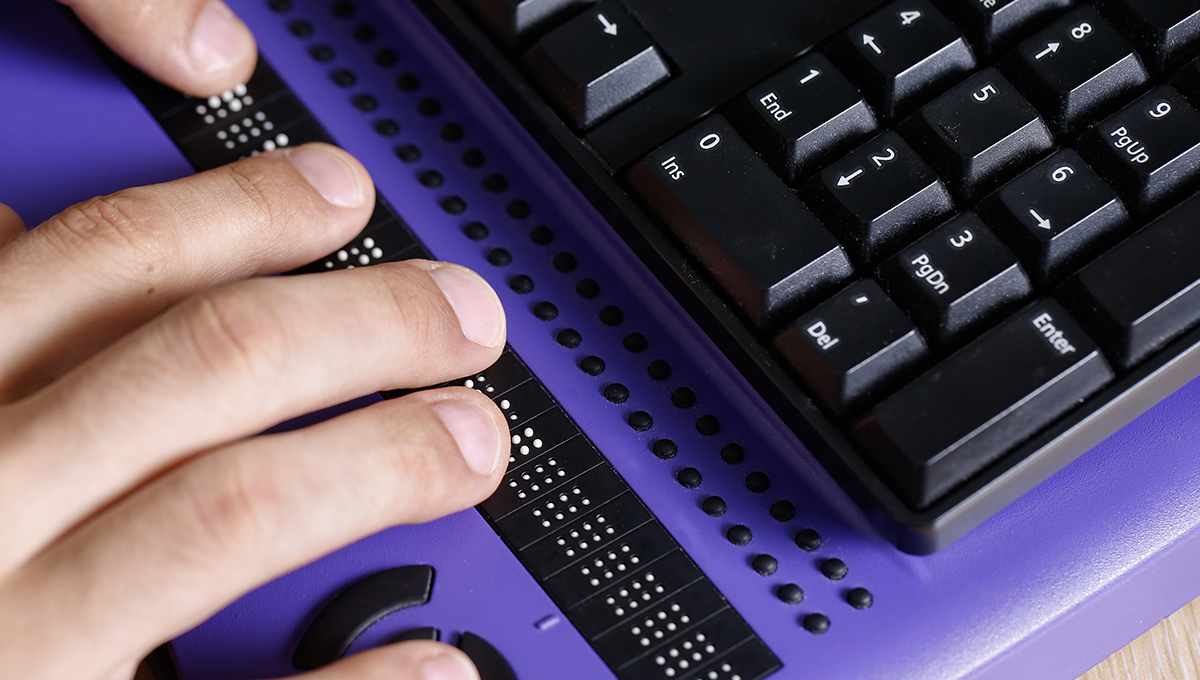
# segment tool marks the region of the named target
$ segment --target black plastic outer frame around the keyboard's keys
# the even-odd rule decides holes
[[[884,4],[884,0],[862,1],[862,11],[853,20]],[[817,405],[793,373],[750,332],[744,318],[707,272],[690,261],[656,219],[626,192],[614,175],[619,168],[608,167],[576,136],[474,16],[456,0],[416,0],[416,5],[691,318],[707,330],[708,337],[876,529],[901,550],[930,554],[942,549],[1200,375],[1200,327],[1193,327],[1134,369],[1120,372],[1106,387],[950,493],[928,507],[913,509],[866,463],[846,429]],[[848,25],[836,26],[805,53]],[[1130,94],[1129,100],[1154,84],[1152,78]],[[752,85],[746,83],[748,88]]]

